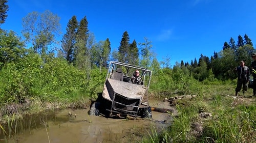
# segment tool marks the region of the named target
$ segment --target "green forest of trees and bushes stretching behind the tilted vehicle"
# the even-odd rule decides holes
[[[2,1],[0,24],[8,12],[7,1]],[[22,20],[22,37],[0,27],[0,122],[13,113],[35,113],[49,106],[87,107],[102,91],[110,61],[152,70],[149,93],[155,97],[173,93],[202,96],[201,84],[235,85],[234,68],[242,60],[250,67],[251,54],[256,51],[249,36],[243,34],[237,41],[232,37],[223,41],[222,50],[212,49],[211,57],[202,53],[198,60],[170,65],[168,58],[158,61],[149,39],[130,41],[127,31],[120,35],[117,50],[112,49],[109,38],[96,42],[86,16],[80,20],[72,16],[66,33],[57,41],[59,20],[50,11],[29,13]]]

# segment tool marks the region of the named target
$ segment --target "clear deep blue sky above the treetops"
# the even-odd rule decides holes
[[[20,34],[22,18],[33,11],[50,10],[60,19],[62,33],[68,21],[84,16],[98,41],[110,39],[112,49],[120,45],[123,32],[130,42],[152,41],[157,59],[169,57],[172,65],[181,60],[190,64],[200,54],[210,58],[224,42],[247,34],[256,44],[256,1],[254,0],[9,0],[5,30]],[[62,38],[62,35],[60,39]]]

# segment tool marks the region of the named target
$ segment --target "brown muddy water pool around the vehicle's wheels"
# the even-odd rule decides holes
[[[151,106],[171,108],[168,102],[161,101],[153,101]],[[169,126],[171,120],[168,113],[155,111],[150,120],[126,120],[89,116],[88,110],[59,111],[55,120],[45,121],[39,127],[28,129],[8,142],[140,142],[143,133],[151,132],[153,126],[161,130]]]

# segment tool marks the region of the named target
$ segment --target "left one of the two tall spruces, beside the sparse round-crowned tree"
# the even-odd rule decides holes
[[[73,16],[67,25],[67,33],[63,35],[61,40],[61,48],[64,54],[65,59],[72,63],[74,60],[74,47],[76,42],[76,32],[78,28],[78,21],[76,16]]]

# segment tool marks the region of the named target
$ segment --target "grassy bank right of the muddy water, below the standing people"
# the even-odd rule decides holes
[[[256,141],[256,98],[250,97],[252,89],[234,97],[233,81],[201,82],[198,86],[202,90],[195,98],[172,102],[179,111],[172,126],[160,132],[153,128],[142,142]],[[167,98],[174,96],[177,94]]]

